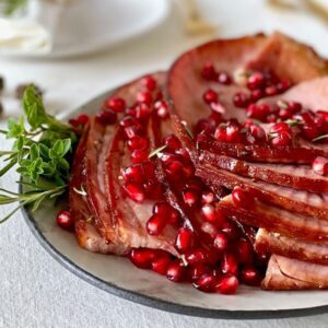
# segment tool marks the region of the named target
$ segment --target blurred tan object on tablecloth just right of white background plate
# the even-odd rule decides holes
[[[196,3],[196,0],[183,0],[183,10],[185,11],[185,30],[190,36],[196,35],[215,35],[216,26],[208,22],[202,15]]]

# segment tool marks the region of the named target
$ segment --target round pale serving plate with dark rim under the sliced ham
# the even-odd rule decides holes
[[[96,112],[113,92],[95,97],[62,119]],[[163,311],[201,317],[259,319],[328,312],[326,291],[268,292],[241,286],[236,295],[206,294],[190,284],[172,283],[156,273],[137,269],[126,258],[86,251],[78,246],[73,234],[56,224],[56,213],[65,206],[54,208],[46,203],[34,213],[24,208],[23,214],[35,237],[56,260],[112,294]]]

